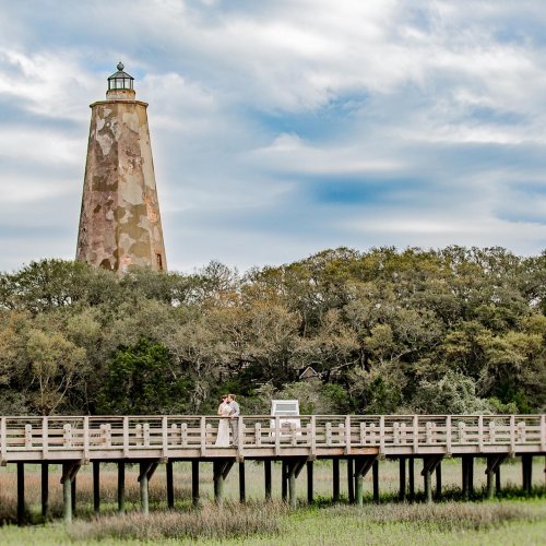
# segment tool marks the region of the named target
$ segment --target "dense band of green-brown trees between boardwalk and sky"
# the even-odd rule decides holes
[[[245,274],[32,262],[0,275],[0,414],[532,413],[546,251],[324,250]],[[308,369],[307,379],[301,372]]]

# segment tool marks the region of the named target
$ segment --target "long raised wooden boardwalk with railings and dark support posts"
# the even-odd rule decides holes
[[[0,417],[0,464],[17,465],[17,514],[24,518],[24,467],[41,465],[43,513],[48,511],[49,465],[61,463],[64,517],[71,520],[75,476],[93,464],[94,505],[99,507],[99,464],[118,464],[118,503],[123,509],[124,465],[140,464],[142,508],[149,510],[147,487],[158,464],[167,465],[167,499],[174,506],[173,463],[192,462],[192,497],[199,501],[199,463],[213,462],[214,492],[222,501],[223,483],[239,464],[240,499],[245,500],[245,461],[264,462],[265,498],[271,498],[271,462],[283,462],[283,498],[296,502],[296,478],[307,466],[308,499],[312,501],[312,464],[333,461],[334,500],[339,500],[340,461],[346,460],[349,500],[363,502],[363,478],[373,472],[379,499],[378,461],[400,461],[400,498],[414,488],[414,464],[423,460],[425,496],[432,500],[431,476],[441,490],[441,461],[462,460],[463,492],[473,488],[474,458],[487,462],[487,491],[500,487],[500,465],[521,456],[523,488],[531,490],[532,459],[546,455],[546,415],[310,415],[285,418],[264,415],[238,417],[235,446],[215,446],[217,416],[49,416]],[[408,479],[406,479],[406,470]],[[336,492],[337,491],[337,492]],[[336,498],[337,497],[337,498]]]

